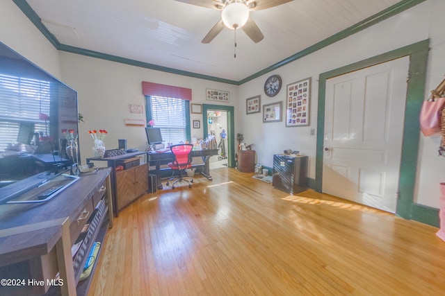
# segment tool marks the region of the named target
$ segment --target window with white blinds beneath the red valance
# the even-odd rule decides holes
[[[146,96],[146,98],[147,124],[153,120],[154,128],[161,128],[164,142],[190,141],[189,101],[162,96]]]

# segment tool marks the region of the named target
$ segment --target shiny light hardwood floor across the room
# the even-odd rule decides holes
[[[445,295],[437,228],[289,195],[233,168],[211,173],[120,212],[90,296]]]

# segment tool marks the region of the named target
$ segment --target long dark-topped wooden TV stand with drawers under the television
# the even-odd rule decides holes
[[[79,281],[83,266],[93,243],[113,226],[110,171],[81,175],[43,204],[0,205],[0,279],[23,279],[0,286],[0,295],[88,294],[92,274]]]

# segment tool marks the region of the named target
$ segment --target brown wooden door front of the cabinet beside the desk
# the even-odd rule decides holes
[[[117,206],[120,211],[127,204],[148,191],[148,164],[140,164],[116,172]]]

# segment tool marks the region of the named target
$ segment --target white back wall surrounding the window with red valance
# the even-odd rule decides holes
[[[108,135],[104,140],[106,149],[118,147],[118,139],[127,139],[128,148],[147,148],[144,127],[126,126],[124,119],[144,119],[144,114],[131,114],[129,104],[145,106],[142,81],[156,82],[192,89],[192,103],[213,105],[236,105],[238,87],[171,73],[129,66],[89,58],[73,53],[60,53],[63,80],[76,89],[79,98],[79,112],[84,123],[79,124],[79,141],[82,159],[92,157],[92,139],[88,130],[104,129]],[[218,89],[230,93],[229,103],[206,101],[206,89]],[[235,110],[235,116],[238,116]],[[201,121],[200,129],[191,129],[191,137],[203,138],[202,114],[191,114],[193,120]]]

